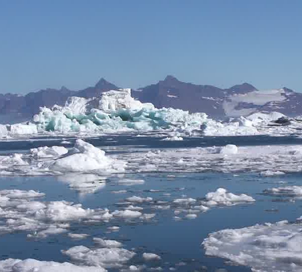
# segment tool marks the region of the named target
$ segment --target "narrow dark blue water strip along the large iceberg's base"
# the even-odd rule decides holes
[[[97,147],[119,147],[136,146],[139,148],[190,148],[190,147],[209,147],[224,146],[233,144],[237,146],[255,146],[255,145],[301,145],[302,138],[295,136],[270,137],[267,135],[256,136],[232,136],[232,137],[184,137],[184,141],[161,141],[165,137],[136,137],[135,134],[104,135],[97,138],[87,138],[85,141]],[[61,144],[62,138],[49,139],[35,138],[34,140],[5,141],[0,142],[0,152],[18,152],[37,148],[41,146],[64,146],[73,147],[73,138],[64,138],[71,144]]]

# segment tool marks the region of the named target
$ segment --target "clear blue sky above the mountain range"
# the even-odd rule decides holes
[[[302,91],[302,1],[0,0],[0,93],[101,77]]]

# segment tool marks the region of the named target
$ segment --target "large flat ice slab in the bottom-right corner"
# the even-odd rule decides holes
[[[255,225],[209,234],[203,241],[205,253],[252,267],[253,271],[300,271],[301,225]]]

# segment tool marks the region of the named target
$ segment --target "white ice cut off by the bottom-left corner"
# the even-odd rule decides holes
[[[69,262],[40,261],[35,259],[6,259],[0,261],[0,270],[5,272],[106,272],[102,267],[77,266]]]

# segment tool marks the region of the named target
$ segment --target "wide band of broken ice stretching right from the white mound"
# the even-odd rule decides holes
[[[256,172],[263,176],[302,171],[301,145],[179,148],[123,153],[126,172]]]

